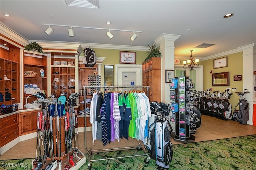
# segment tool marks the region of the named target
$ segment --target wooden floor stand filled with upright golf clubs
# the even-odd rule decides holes
[[[79,94],[72,93],[68,99],[66,96],[59,96],[58,99],[50,100],[37,94],[34,96],[41,103],[42,110],[38,111],[36,158],[32,160],[32,169],[80,168],[86,162],[86,157],[78,149],[77,114],[74,106]]]

